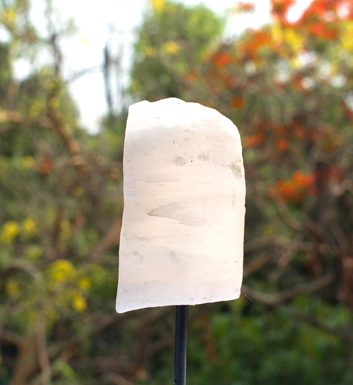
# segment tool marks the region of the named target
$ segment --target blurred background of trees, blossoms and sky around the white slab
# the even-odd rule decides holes
[[[353,383],[353,1],[1,0],[0,384],[171,384],[174,309],[117,315],[129,104],[239,128],[239,300],[187,382]]]

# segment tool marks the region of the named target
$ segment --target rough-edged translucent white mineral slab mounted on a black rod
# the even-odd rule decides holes
[[[245,178],[236,126],[176,98],[129,108],[118,313],[239,298]]]

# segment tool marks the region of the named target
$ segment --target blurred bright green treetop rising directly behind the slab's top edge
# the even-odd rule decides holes
[[[202,63],[223,30],[223,20],[204,5],[153,4],[135,45],[130,92],[137,100],[181,97],[191,65]]]

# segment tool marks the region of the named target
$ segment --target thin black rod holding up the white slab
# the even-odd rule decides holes
[[[188,305],[175,307],[174,385],[186,384],[186,346]]]

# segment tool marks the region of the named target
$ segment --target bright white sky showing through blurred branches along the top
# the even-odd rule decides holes
[[[197,5],[199,0],[182,0],[186,5]],[[234,0],[204,0],[209,8],[219,14],[224,14],[227,8],[234,6]],[[258,28],[270,20],[270,1],[253,0],[256,10],[253,13],[236,15],[228,23],[226,36],[242,32],[245,28]],[[297,4],[289,11],[289,19],[296,20],[303,10],[310,4],[310,0],[297,0]],[[70,83],[70,91],[78,104],[82,125],[90,132],[99,130],[99,119],[107,112],[105,100],[104,80],[102,72],[103,48],[109,39],[109,28],[114,28],[115,39],[124,42],[123,47],[123,76],[122,82],[128,81],[129,67],[132,57],[132,44],[136,37],[135,31],[141,23],[146,6],[151,6],[149,0],[101,0],[99,6],[94,2],[72,2],[71,0],[54,0],[54,7],[58,11],[58,20],[72,18],[78,28],[73,38],[62,40],[64,52],[64,77],[70,78],[73,74],[92,69],[88,74]],[[32,5],[32,18],[39,31],[46,33],[43,17],[45,3],[37,0]],[[110,26],[110,27],[109,27]],[[1,31],[0,31],[1,32]],[[2,40],[2,33],[0,33]],[[119,41],[111,42],[112,51],[117,53]],[[114,48],[115,47],[115,48]],[[43,57],[43,62],[49,58]],[[36,63],[40,65],[43,63]],[[25,77],[30,70],[28,62],[19,60],[16,65],[18,77]],[[115,81],[113,79],[113,88]]]

